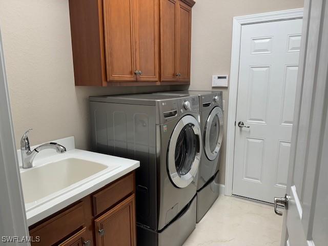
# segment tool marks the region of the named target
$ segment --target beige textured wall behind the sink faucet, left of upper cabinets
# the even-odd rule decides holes
[[[0,25],[17,148],[33,128],[32,145],[73,135],[88,149],[88,96],[170,89],[75,87],[68,0],[0,0]]]

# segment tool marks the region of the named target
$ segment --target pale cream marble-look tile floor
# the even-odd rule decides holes
[[[183,246],[279,246],[281,227],[272,206],[222,195]]]

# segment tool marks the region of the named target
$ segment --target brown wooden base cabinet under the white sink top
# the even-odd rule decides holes
[[[32,246],[136,245],[135,173],[33,224]]]

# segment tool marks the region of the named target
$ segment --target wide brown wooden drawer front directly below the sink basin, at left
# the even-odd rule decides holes
[[[30,231],[30,236],[39,236],[39,242],[32,242],[32,245],[49,246],[67,237],[69,234],[84,225],[83,202],[77,203],[74,207],[56,215]]]

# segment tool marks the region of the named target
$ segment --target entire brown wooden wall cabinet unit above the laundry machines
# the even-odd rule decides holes
[[[193,0],[69,0],[75,85],[189,84]]]

